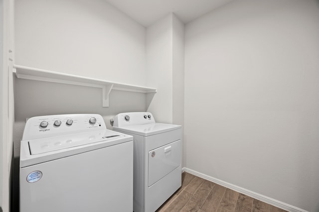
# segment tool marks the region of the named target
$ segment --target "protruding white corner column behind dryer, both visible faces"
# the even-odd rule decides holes
[[[184,24],[172,13],[147,28],[147,85],[158,89],[148,111],[160,123],[183,124],[183,37]]]

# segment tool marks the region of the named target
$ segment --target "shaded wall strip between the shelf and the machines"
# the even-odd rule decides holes
[[[22,125],[22,131],[26,118],[72,113],[101,114],[112,129],[110,119],[116,114],[146,110],[146,94],[138,92],[112,90],[110,107],[102,107],[101,88],[16,78],[14,89],[15,124]]]

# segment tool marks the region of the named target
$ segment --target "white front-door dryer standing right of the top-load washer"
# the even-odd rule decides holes
[[[118,114],[113,130],[134,137],[134,212],[155,212],[181,186],[181,126],[134,112]]]

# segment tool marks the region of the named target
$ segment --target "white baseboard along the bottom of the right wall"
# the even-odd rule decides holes
[[[250,190],[247,190],[247,189],[244,189],[244,188],[241,188],[241,187],[233,185],[231,183],[227,183],[225,181],[222,181],[222,180],[216,179],[214,177],[208,176],[206,174],[191,170],[189,168],[184,167],[184,168],[182,168],[182,170],[187,172],[187,173],[193,174],[193,175],[195,175],[197,177],[203,178],[205,180],[208,180],[208,181],[211,181],[211,182],[216,183],[218,185],[221,185],[221,186],[224,186],[226,188],[229,188],[231,190],[234,190],[234,191],[237,191],[239,193],[245,194],[245,195],[247,195],[249,197],[255,198],[255,199],[260,200],[262,202],[265,202],[265,203],[268,203],[270,205],[276,206],[278,208],[284,209],[286,211],[289,211],[289,212],[307,212],[307,211],[305,211],[303,209],[300,209],[300,208],[297,208],[295,206],[280,202],[280,201],[272,199],[270,197],[266,197],[264,195],[258,194],[256,192],[253,192],[253,191],[250,191]]]

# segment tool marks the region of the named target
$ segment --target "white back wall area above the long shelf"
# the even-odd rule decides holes
[[[145,27],[105,0],[16,0],[15,64],[145,85]]]

